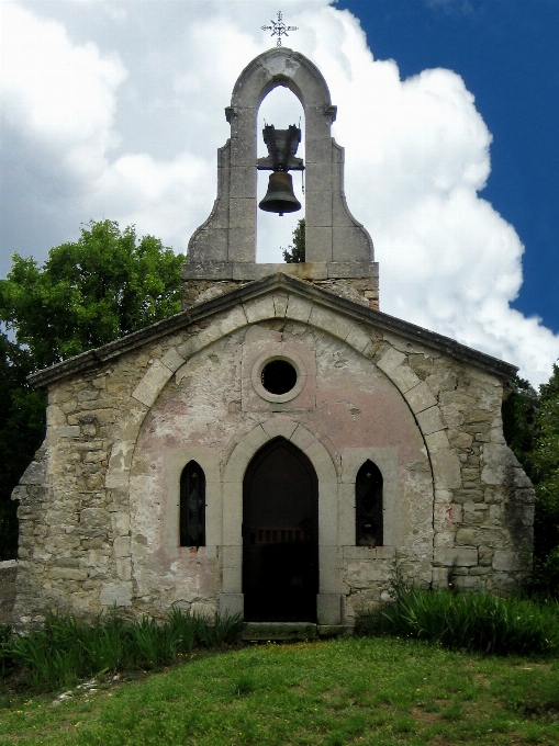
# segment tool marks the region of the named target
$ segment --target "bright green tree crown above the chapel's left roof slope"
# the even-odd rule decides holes
[[[185,261],[133,226],[89,223],[75,244],[51,249],[41,268],[14,253],[0,281],[0,318],[45,368],[180,310]]]

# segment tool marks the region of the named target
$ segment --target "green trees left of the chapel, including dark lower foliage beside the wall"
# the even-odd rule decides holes
[[[180,267],[158,238],[91,222],[40,267],[12,257],[0,280],[0,560],[15,556],[12,489],[41,445],[46,397],[26,376],[180,310]]]

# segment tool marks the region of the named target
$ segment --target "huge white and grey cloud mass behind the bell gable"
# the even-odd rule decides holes
[[[244,66],[272,45],[260,25],[276,5],[1,8],[2,246],[44,258],[80,223],[110,217],[185,251],[215,196],[223,108]],[[283,11],[300,29],[289,43],[321,68],[338,106],[346,194],[374,240],[381,308],[514,362],[534,383],[547,380],[559,338],[510,308],[524,247],[480,196],[491,134],[462,79],[435,69],[402,80],[396,61],[376,60],[357,19],[328,0],[284,2]],[[277,90],[260,121],[284,126],[301,113]],[[261,216],[259,260],[280,261],[295,222]]]

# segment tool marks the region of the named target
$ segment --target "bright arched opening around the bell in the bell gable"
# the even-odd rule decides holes
[[[272,124],[276,129],[287,129],[294,124],[301,128],[301,143],[297,156],[304,161],[304,110],[294,93],[288,88],[277,86],[262,99],[257,115],[257,157],[268,156],[268,148],[262,137],[265,124]],[[272,171],[258,171],[257,204],[265,197]],[[303,173],[303,176],[301,176]],[[256,261],[258,263],[283,262],[282,249],[292,244],[293,230],[305,214],[303,194],[304,171],[289,171],[292,178],[293,194],[301,203],[301,210],[284,213],[281,217],[277,213],[267,213],[257,208],[256,225]]]

